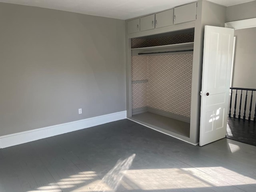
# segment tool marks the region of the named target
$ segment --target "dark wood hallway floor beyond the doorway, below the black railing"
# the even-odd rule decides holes
[[[228,117],[226,137],[256,146],[256,124],[252,120]]]

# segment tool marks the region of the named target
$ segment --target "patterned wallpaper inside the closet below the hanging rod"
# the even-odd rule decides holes
[[[132,56],[132,108],[149,106],[190,117],[193,54]]]

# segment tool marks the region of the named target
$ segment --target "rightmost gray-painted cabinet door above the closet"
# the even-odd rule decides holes
[[[174,8],[174,24],[196,20],[196,3]]]

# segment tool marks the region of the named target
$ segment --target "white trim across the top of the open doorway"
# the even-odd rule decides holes
[[[234,30],[256,27],[256,18],[227,22],[225,27],[233,28]]]

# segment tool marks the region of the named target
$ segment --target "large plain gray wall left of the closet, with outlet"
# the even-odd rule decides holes
[[[124,20],[0,3],[0,45],[0,136],[126,110]]]

